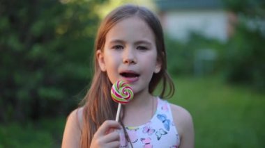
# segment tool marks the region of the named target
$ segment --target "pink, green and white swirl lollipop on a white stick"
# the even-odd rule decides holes
[[[121,112],[121,104],[128,104],[128,102],[133,98],[132,88],[130,85],[123,81],[116,81],[112,85],[112,99],[119,103],[117,114],[116,114],[116,121],[119,120],[119,114]]]

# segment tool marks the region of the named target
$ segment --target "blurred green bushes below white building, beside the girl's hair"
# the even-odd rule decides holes
[[[170,38],[165,38],[167,48],[167,65],[168,70],[173,75],[197,74],[197,56],[199,52],[211,51],[215,54],[212,60],[202,61],[203,67],[199,67],[202,74],[212,74],[222,67],[221,58],[218,57],[222,53],[224,44],[213,38],[206,38],[196,32],[190,33],[190,38],[186,42],[179,42]],[[203,59],[199,59],[203,60]],[[211,69],[211,70],[207,70]]]

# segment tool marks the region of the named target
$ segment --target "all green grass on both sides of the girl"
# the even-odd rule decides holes
[[[265,94],[222,83],[218,77],[174,79],[171,101],[195,124],[195,147],[265,147]],[[65,117],[24,125],[0,124],[2,147],[61,147]]]

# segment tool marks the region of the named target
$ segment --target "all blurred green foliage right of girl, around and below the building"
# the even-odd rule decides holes
[[[258,92],[265,91],[265,2],[260,0],[224,0],[224,8],[234,13],[233,32],[226,42],[207,38],[197,32],[190,32],[186,42],[167,38],[168,69],[171,74],[196,75],[197,54],[210,49],[217,57],[206,61],[204,72],[222,74],[228,83],[247,85]],[[207,65],[208,63],[208,65]],[[205,71],[205,69],[202,69]]]

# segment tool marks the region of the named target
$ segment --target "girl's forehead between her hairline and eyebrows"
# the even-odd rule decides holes
[[[139,17],[129,17],[116,23],[106,35],[106,43],[112,40],[124,40],[125,42],[148,40],[155,44],[153,31]]]

